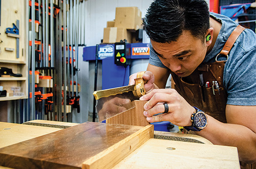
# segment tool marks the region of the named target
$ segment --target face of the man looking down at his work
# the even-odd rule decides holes
[[[180,77],[193,73],[204,60],[207,51],[205,42],[189,31],[183,31],[177,41],[158,43],[151,40],[151,43],[161,62]]]

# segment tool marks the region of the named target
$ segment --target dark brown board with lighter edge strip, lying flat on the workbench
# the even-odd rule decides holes
[[[111,168],[153,138],[153,126],[83,123],[0,149],[12,168]]]

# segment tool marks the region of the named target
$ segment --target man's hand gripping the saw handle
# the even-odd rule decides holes
[[[135,80],[137,78],[137,74],[135,73],[133,75],[130,76],[129,78],[129,85],[134,85],[135,84]],[[144,84],[144,89],[146,90],[146,93],[151,92],[153,89],[158,88],[155,84],[155,76],[153,75],[153,73],[151,71],[145,71],[145,73],[143,74],[142,78],[146,81],[146,84]]]

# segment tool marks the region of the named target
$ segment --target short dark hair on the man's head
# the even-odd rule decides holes
[[[184,30],[204,40],[210,28],[209,9],[204,0],[155,0],[143,19],[147,35],[154,41],[177,41]]]

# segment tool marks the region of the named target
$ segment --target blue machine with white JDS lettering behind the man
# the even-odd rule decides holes
[[[148,43],[127,43],[126,59],[149,59]],[[129,84],[130,65],[115,64],[115,44],[100,44],[98,60],[102,61],[102,90]],[[95,61],[96,46],[83,48],[83,61]]]

